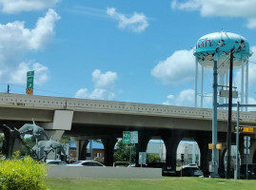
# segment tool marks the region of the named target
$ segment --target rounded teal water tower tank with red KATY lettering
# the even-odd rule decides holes
[[[220,66],[229,60],[229,52],[232,48],[234,52],[234,67],[242,66],[249,57],[249,44],[243,36],[226,31],[209,33],[201,37],[196,44],[194,55],[202,66],[213,67],[213,59]],[[229,66],[226,66],[226,69]]]

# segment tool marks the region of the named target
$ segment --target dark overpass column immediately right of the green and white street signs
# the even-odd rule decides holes
[[[139,165],[139,153],[146,152],[148,142],[150,141],[151,137],[148,134],[144,133],[143,131],[138,131],[138,143],[135,144],[136,148],[136,162],[135,165]]]

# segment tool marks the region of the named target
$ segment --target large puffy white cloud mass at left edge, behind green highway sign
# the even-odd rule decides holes
[[[60,17],[48,10],[39,18],[35,28],[25,28],[25,22],[0,24],[0,80],[11,84],[26,84],[26,72],[35,70],[35,84],[48,80],[48,67],[39,63],[24,63],[26,53],[45,47],[54,34],[55,22]]]

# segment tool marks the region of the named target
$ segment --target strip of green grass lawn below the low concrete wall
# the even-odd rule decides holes
[[[46,179],[49,190],[256,190],[256,180],[163,178],[162,180]]]

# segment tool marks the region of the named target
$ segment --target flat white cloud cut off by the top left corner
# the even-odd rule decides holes
[[[30,10],[46,10],[52,8],[59,0],[0,0],[2,11],[17,13]]]

